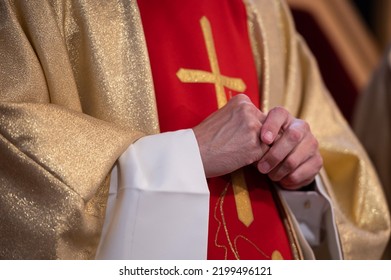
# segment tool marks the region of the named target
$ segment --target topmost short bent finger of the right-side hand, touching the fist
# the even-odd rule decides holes
[[[261,141],[271,145],[281,129],[288,127],[292,116],[282,107],[275,107],[267,114],[261,129]]]

